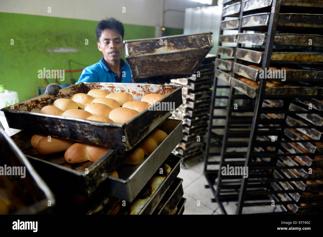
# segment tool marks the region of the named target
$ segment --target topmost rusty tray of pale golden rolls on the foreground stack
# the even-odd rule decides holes
[[[43,94],[2,111],[11,128],[130,150],[170,116],[171,107],[174,110],[182,104],[181,88],[179,85],[80,83],[60,89],[57,95]],[[70,100],[57,101],[62,98]],[[166,106],[158,109],[154,105],[157,101]],[[153,106],[148,108],[150,104]],[[95,117],[89,118],[92,115]]]

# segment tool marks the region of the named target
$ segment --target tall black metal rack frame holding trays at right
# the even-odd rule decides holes
[[[277,45],[299,45],[304,46],[302,44],[302,41],[299,40],[297,42],[295,40],[296,37],[293,39],[293,29],[292,27],[288,27],[286,22],[284,22],[283,16],[288,15],[286,11],[296,10],[298,11],[305,11],[307,9],[300,10],[299,7],[303,8],[303,6],[297,6],[296,3],[293,1],[286,1],[286,0],[273,0],[266,1],[264,3],[259,2],[259,4],[262,5],[256,5],[258,8],[262,9],[263,12],[267,11],[268,9],[271,9],[271,13],[269,14],[262,14],[260,13],[262,10],[259,10],[256,8],[251,9],[250,6],[255,6],[252,3],[256,3],[256,0],[247,0],[247,1],[241,1],[244,7],[241,6],[241,2],[235,1],[235,4],[230,4],[232,1],[224,1],[224,9],[223,9],[223,21],[221,22],[221,33],[220,33],[220,40],[221,42],[237,42],[237,45],[235,48],[229,48],[229,47],[219,47],[218,54],[219,55],[226,55],[226,56],[235,56],[234,57],[234,63],[231,67],[231,73],[230,74],[222,71],[221,69],[215,69],[216,70],[216,78],[214,80],[214,87],[216,86],[216,79],[228,79],[232,86],[230,89],[230,96],[229,96],[229,103],[228,103],[228,113],[226,116],[226,124],[224,127],[224,137],[223,137],[223,143],[222,143],[222,150],[221,150],[221,159],[219,162],[219,167],[223,167],[226,165],[230,166],[244,166],[249,168],[249,177],[248,178],[241,178],[241,175],[234,175],[234,176],[224,176],[221,175],[221,172],[218,170],[208,170],[207,164],[215,164],[216,162],[212,163],[212,161],[208,161],[210,159],[211,155],[214,155],[213,153],[209,152],[209,149],[212,147],[212,144],[210,144],[210,139],[212,138],[212,116],[210,118],[209,122],[209,128],[208,128],[208,142],[206,144],[206,154],[205,154],[205,169],[204,174],[208,180],[208,187],[210,187],[214,193],[215,198],[212,201],[217,201],[219,203],[219,206],[224,214],[226,214],[226,211],[222,205],[222,202],[224,201],[237,201],[237,214],[241,214],[243,207],[251,207],[251,206],[265,206],[265,205],[271,205],[274,201],[275,205],[279,206],[281,208],[281,212],[269,212],[272,213],[282,213],[282,214],[294,214],[294,213],[318,213],[322,212],[322,209],[320,208],[322,206],[323,199],[320,197],[320,193],[323,190],[319,183],[317,185],[313,184],[312,187],[309,185],[310,180],[317,180],[321,181],[323,174],[322,170],[320,170],[320,166],[322,163],[320,162],[311,162],[311,163],[296,163],[291,161],[291,154],[286,154],[286,152],[292,153],[292,155],[304,155],[300,150],[292,149],[290,146],[295,142],[294,139],[297,139],[297,137],[291,136],[291,133],[288,133],[288,136],[286,133],[289,130],[286,130],[288,128],[291,129],[297,129],[300,132],[304,132],[304,126],[301,128],[300,124],[292,124],[291,121],[295,118],[295,116],[298,116],[296,114],[304,113],[304,114],[317,114],[320,113],[321,108],[319,106],[316,107],[318,110],[311,110],[311,111],[304,111],[304,108],[300,108],[300,106],[296,106],[295,102],[293,100],[303,100],[305,101],[313,101],[313,99],[310,98],[322,98],[322,92],[319,89],[318,93],[307,93],[307,89],[305,87],[314,87],[314,86],[321,86],[319,83],[315,83],[315,81],[318,81],[322,77],[322,73],[320,70],[321,68],[317,69],[310,69],[310,71],[307,71],[311,75],[307,79],[304,75],[305,72],[301,70],[287,70],[287,81],[291,81],[291,78],[296,79],[298,82],[302,81],[311,81],[310,84],[303,84],[300,85],[298,89],[296,90],[289,90],[287,87],[283,91],[288,91],[289,93],[279,93],[275,94],[273,93],[272,89],[266,88],[266,82],[267,79],[265,78],[257,78],[256,75],[253,77],[253,72],[251,72],[251,69],[249,66],[244,66],[243,64],[246,63],[246,61],[253,62],[254,64],[260,64],[262,66],[262,70],[265,70],[266,68],[269,68],[269,66],[272,66],[273,63],[276,64],[309,64],[309,63],[315,63],[315,62],[308,62],[309,60],[301,60],[300,62],[293,62],[292,60],[277,60],[277,57],[273,57],[272,55],[277,55],[277,52],[279,53],[279,49],[284,49],[284,47],[277,46]],[[309,2],[310,3],[310,2]],[[314,1],[313,1],[314,3]],[[230,5],[228,5],[230,4]],[[298,5],[301,5],[302,3],[298,3]],[[322,3],[315,3],[317,6],[322,7]],[[281,8],[280,5],[283,5]],[[286,7],[286,5],[292,5],[292,10]],[[314,11],[313,8],[308,8],[309,11]],[[264,27],[262,25],[260,28],[256,28],[255,26],[252,26],[248,23],[248,18],[250,18],[252,15],[250,13],[259,13],[256,16],[263,16],[266,15],[268,24],[267,27]],[[280,14],[284,13],[284,14]],[[225,20],[225,16],[238,16],[239,18],[234,20]],[[292,14],[289,14],[292,15]],[[297,14],[296,14],[297,15]],[[301,14],[298,14],[301,15]],[[308,15],[307,15],[308,16]],[[315,16],[317,17],[317,15]],[[230,23],[231,21],[231,23]],[[238,24],[237,24],[238,21]],[[232,24],[234,22],[234,24]],[[259,23],[259,22],[258,22]],[[306,23],[306,21],[304,21]],[[249,25],[248,25],[249,24]],[[285,24],[285,25],[284,25]],[[315,24],[315,22],[313,23]],[[319,24],[319,23],[316,23]],[[297,24],[296,24],[297,25]],[[279,37],[285,37],[284,34],[276,34],[276,28],[279,26],[279,30],[284,30],[285,32],[289,33],[289,41],[279,42]],[[238,28],[238,35],[223,35],[223,29],[228,28]],[[309,25],[310,27],[310,25]],[[312,26],[312,27],[318,27],[318,26]],[[254,31],[265,31],[266,34],[259,34],[258,32],[255,33],[248,33],[248,34],[242,34],[244,30],[254,30]],[[311,33],[309,29],[304,29],[307,31],[307,33]],[[295,31],[295,29],[294,29]],[[292,32],[292,34],[290,34]],[[313,34],[313,33],[312,33]],[[317,33],[315,33],[317,34]],[[251,36],[257,36],[258,41],[257,43],[251,42],[254,45],[253,48],[242,48],[242,44],[250,43],[250,39],[248,37]],[[288,35],[288,34],[287,34]],[[279,37],[278,37],[279,36]],[[259,41],[259,37],[263,37],[262,39],[266,39],[265,41]],[[318,37],[318,44],[316,46],[322,47],[322,41],[321,36],[316,35]],[[255,39],[255,37],[254,37]],[[249,41],[248,41],[249,40]],[[266,43],[264,43],[266,42]],[[275,49],[273,52],[273,46],[275,42]],[[257,54],[257,51],[261,51],[259,49],[261,45],[265,44],[265,48],[263,49],[262,53]],[[259,47],[260,46],[260,47]],[[255,48],[258,47],[258,48]],[[296,49],[296,50],[295,50]],[[314,56],[317,56],[320,54],[320,48],[310,48],[311,50],[315,50]],[[299,48],[295,47],[294,51],[297,52]],[[252,52],[253,51],[253,52]],[[291,50],[292,51],[292,50]],[[255,57],[247,58],[247,56],[255,56],[258,55],[258,61],[255,60]],[[279,58],[279,57],[278,57]],[[219,62],[223,61],[217,58]],[[224,62],[225,64],[225,62]],[[241,64],[244,70],[241,70]],[[218,64],[220,65],[220,63]],[[302,68],[304,69],[304,68]],[[229,71],[229,70],[227,70]],[[259,70],[254,70],[256,73],[259,72]],[[295,72],[297,71],[297,72]],[[251,73],[250,73],[251,72]],[[292,73],[299,73],[300,75]],[[239,82],[237,78],[239,76],[245,76],[248,77],[251,80],[257,81],[259,80],[259,88],[253,89],[251,86],[248,86],[247,84],[244,84],[242,82]],[[296,75],[296,76],[295,76]],[[317,76],[317,77],[316,77]],[[275,80],[275,79],[269,79]],[[277,79],[276,79],[277,80]],[[278,80],[277,80],[278,81]],[[244,108],[240,108],[243,112],[251,111],[253,112],[253,116],[246,116],[245,118],[240,118],[238,121],[234,121],[233,119],[233,113],[234,113],[234,99],[236,99],[236,90],[239,90],[243,92],[244,94],[247,94],[248,96],[254,98],[251,103],[255,103],[253,106],[246,106]],[[277,93],[278,90],[276,90]],[[282,91],[282,90],[281,90]],[[215,94],[213,94],[212,102],[214,103]],[[282,101],[279,100],[282,99]],[[271,104],[268,106],[268,104],[264,103],[268,102]],[[315,99],[314,99],[315,100]],[[293,103],[291,103],[293,102]],[[274,104],[276,105],[274,105]],[[294,104],[294,105],[293,105]],[[274,105],[274,106],[272,106]],[[299,105],[299,104],[298,104]],[[213,107],[213,104],[212,104]],[[272,107],[272,108],[270,108]],[[238,106],[239,108],[239,106]],[[297,111],[298,110],[298,111]],[[279,118],[272,115],[278,114]],[[267,114],[270,114],[271,117],[268,117]],[[313,115],[312,115],[313,116]],[[303,116],[304,117],[304,116]],[[306,116],[305,116],[306,117]],[[274,119],[275,118],[275,119]],[[288,120],[289,119],[289,120]],[[246,122],[243,122],[243,121]],[[288,120],[288,121],[287,121]],[[307,119],[309,120],[309,119]],[[252,121],[252,122],[251,122]],[[274,123],[273,123],[274,122]],[[285,124],[287,123],[287,125]],[[237,126],[236,126],[237,125]],[[270,126],[270,129],[266,128],[266,126]],[[239,131],[234,131],[233,128],[238,128]],[[314,128],[318,129],[318,124],[309,124],[307,125],[307,128]],[[274,139],[270,139],[272,136],[274,136]],[[249,138],[249,142],[233,142],[232,138],[234,137],[240,137],[240,138]],[[294,138],[294,139],[291,139]],[[312,145],[309,142],[319,142],[320,138],[313,140],[301,140],[297,141],[299,144],[307,144],[308,147],[312,147]],[[239,148],[241,152],[229,152],[228,150],[232,147]],[[286,149],[286,147],[289,149]],[[308,149],[310,149],[308,148]],[[237,149],[235,149],[236,151]],[[296,151],[296,152],[295,152]],[[316,151],[315,155],[321,155],[322,153],[320,151]],[[297,156],[299,157],[299,156]],[[301,156],[303,157],[303,156]],[[309,161],[313,160],[314,154],[308,152],[306,153],[306,157],[308,157]],[[311,159],[312,158],[312,159]],[[317,157],[319,158],[319,157]],[[305,158],[304,158],[305,159]],[[313,160],[314,161],[314,160]],[[320,159],[318,159],[320,161]],[[286,169],[286,166],[289,166],[289,169]],[[285,167],[285,168],[284,168]],[[297,168],[297,169],[295,169]],[[304,169],[313,168],[317,169],[317,173],[313,176],[305,175],[306,172]],[[303,171],[302,171],[303,170]],[[300,172],[300,175],[293,176],[293,172]],[[305,173],[304,173],[305,172]],[[299,172],[298,172],[299,173]],[[297,174],[298,174],[297,173]],[[303,175],[303,176],[301,176]],[[215,179],[217,178],[217,182],[215,182]],[[290,184],[292,183],[292,185]],[[294,184],[304,184],[300,188],[299,185]],[[216,189],[213,187],[213,185],[216,184]],[[294,186],[293,186],[294,185]],[[314,189],[314,188],[315,189]],[[304,194],[304,190],[314,190],[313,193],[310,193],[307,197]],[[308,193],[307,193],[308,194]],[[316,195],[319,194],[319,195]],[[280,198],[280,199],[279,199]],[[302,206],[299,205],[299,203],[302,202]],[[315,205],[313,205],[315,203]],[[314,207],[313,207],[314,206]],[[287,207],[287,208],[286,208]],[[269,214],[267,213],[267,214]]]

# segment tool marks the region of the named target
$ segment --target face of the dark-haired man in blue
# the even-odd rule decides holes
[[[122,37],[118,31],[105,29],[101,32],[98,49],[108,61],[118,61],[123,52]]]

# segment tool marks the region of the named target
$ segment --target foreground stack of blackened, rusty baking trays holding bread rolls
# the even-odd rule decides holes
[[[11,139],[1,136],[4,154],[1,163],[17,166],[27,158],[25,165],[29,172],[28,179],[21,180],[0,176],[9,177],[0,182],[0,201],[8,206],[7,212],[39,213],[51,201],[54,206],[51,210],[56,214],[182,214],[185,199],[182,179],[177,177],[182,158],[171,154],[182,141],[182,121],[169,119],[169,110],[146,108],[125,123],[39,113],[58,98],[69,99],[73,94],[87,94],[92,89],[126,92],[134,101],[140,101],[146,94],[162,94],[159,102],[173,103],[175,108],[182,104],[182,86],[178,85],[80,83],[61,89],[55,96],[43,94],[3,108],[9,127],[22,131]],[[164,140],[140,163],[125,164],[157,129],[166,134]],[[31,144],[34,134],[45,135],[48,144],[59,137],[73,143],[89,143],[88,147],[98,145],[105,152],[94,162],[68,163],[64,152],[40,154],[38,144],[36,148]]]

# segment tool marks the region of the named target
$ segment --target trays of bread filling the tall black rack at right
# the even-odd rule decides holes
[[[215,74],[231,84],[220,167],[247,166],[249,177],[219,173],[215,199],[237,202],[237,214],[256,206],[268,214],[322,213],[323,2],[224,5],[221,32],[237,29],[238,34],[220,34],[219,43],[236,46],[217,51]],[[254,112],[240,123],[232,123],[231,116],[236,92],[252,99]],[[244,130],[233,131],[239,124]],[[232,144],[232,137],[249,141]],[[232,147],[241,152],[229,152]],[[272,212],[272,201],[280,210]]]

